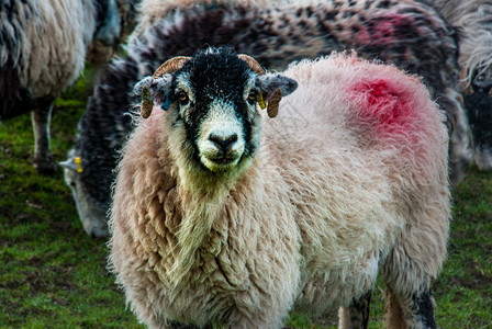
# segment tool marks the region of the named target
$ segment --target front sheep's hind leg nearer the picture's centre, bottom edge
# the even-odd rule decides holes
[[[349,307],[338,310],[339,328],[367,328],[372,292],[354,299]]]

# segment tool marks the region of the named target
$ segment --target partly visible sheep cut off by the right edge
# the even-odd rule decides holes
[[[444,18],[460,29],[461,82],[466,87],[474,144],[474,162],[480,170],[492,169],[492,1],[432,0]]]

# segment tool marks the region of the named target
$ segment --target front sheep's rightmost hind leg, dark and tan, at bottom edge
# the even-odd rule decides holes
[[[387,297],[388,328],[437,328],[434,318],[436,303],[431,290],[414,294],[410,298],[388,290]]]

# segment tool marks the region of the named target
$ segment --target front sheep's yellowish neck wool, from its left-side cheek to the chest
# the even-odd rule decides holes
[[[175,112],[160,116],[156,123],[159,129],[156,136],[161,146],[159,158],[161,163],[171,166],[181,202],[181,220],[176,232],[179,253],[169,273],[178,286],[192,280],[188,275],[199,265],[200,258],[216,257],[221,252],[222,239],[213,239],[212,230],[226,237],[227,225],[219,229],[214,224],[226,220],[227,204],[233,198],[231,193],[254,185],[248,181],[260,167],[256,163],[258,157],[244,158],[234,171],[213,173],[197,163],[185,127],[177,122]]]

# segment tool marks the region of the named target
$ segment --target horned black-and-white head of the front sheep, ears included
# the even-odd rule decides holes
[[[169,111],[174,126],[187,136],[188,159],[213,172],[227,172],[253,159],[259,145],[257,103],[270,117],[278,114],[282,95],[297,82],[280,73],[267,73],[250,56],[209,48],[193,57],[175,57],[153,77],[135,86],[142,95],[142,115],[154,103]],[[261,106],[264,105],[264,106]]]

